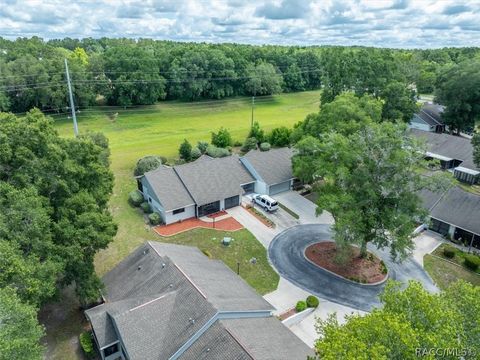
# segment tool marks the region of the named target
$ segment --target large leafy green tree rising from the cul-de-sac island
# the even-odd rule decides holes
[[[339,252],[358,244],[365,257],[372,243],[389,247],[392,258],[406,257],[416,223],[427,215],[418,191],[439,187],[443,174],[419,173],[423,151],[403,126],[371,122],[351,135],[307,137],[297,149],[295,176],[324,179],[317,211],[327,210],[335,219]]]

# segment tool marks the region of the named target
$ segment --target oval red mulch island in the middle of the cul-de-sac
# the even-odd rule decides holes
[[[308,260],[346,279],[374,284],[386,278],[386,267],[378,257],[368,253],[367,257],[361,258],[360,249],[355,246],[351,247],[351,253],[346,264],[340,265],[334,261],[337,249],[333,241],[315,243],[305,249]]]

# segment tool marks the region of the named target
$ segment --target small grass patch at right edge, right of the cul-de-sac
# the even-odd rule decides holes
[[[427,254],[423,257],[423,266],[440,289],[446,289],[460,279],[480,286],[480,275],[441,258]]]

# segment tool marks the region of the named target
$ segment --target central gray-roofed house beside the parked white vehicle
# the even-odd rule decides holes
[[[165,224],[201,217],[241,204],[244,193],[273,195],[293,183],[289,148],[252,150],[197,160],[173,167],[160,166],[137,179],[138,189]]]

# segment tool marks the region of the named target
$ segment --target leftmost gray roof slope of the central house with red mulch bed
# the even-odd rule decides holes
[[[155,170],[146,172],[145,178],[165,211],[195,203],[173,168],[160,166]]]

